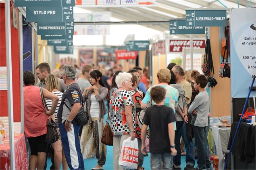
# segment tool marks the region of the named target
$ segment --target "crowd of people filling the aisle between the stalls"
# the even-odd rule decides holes
[[[107,152],[101,138],[106,114],[113,134],[113,169],[124,169],[119,156],[123,141],[129,137],[137,138],[139,170],[144,169],[147,156],[145,140],[150,141],[152,169],[181,169],[184,152],[185,169],[210,169],[210,101],[207,79],[198,71],[184,72],[181,66],[170,63],[158,70],[156,85],[151,85],[148,67],[123,72],[121,65],[115,65],[104,74],[91,65],[81,70],[64,65],[51,72],[48,63],[41,63],[35,75],[40,80],[36,84],[31,71],[23,74],[25,136],[31,148],[29,169],[45,169],[46,153],[51,148],[50,169],[60,169],[61,164],[63,169],[85,169],[83,160],[87,158],[98,160],[92,169],[103,169]],[[89,120],[77,125],[73,120],[83,106]],[[51,145],[45,142],[49,117],[60,132],[60,140]]]

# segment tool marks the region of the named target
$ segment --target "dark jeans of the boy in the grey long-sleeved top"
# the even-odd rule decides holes
[[[210,167],[211,162],[208,156],[208,141],[207,141],[207,130],[206,127],[198,127],[193,126],[194,129],[194,137],[197,146],[197,154],[198,154],[198,167]]]

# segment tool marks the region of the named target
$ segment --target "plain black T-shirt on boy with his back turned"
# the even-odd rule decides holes
[[[175,115],[171,107],[152,105],[146,109],[144,124],[150,127],[150,153],[171,152],[168,124],[175,121]]]

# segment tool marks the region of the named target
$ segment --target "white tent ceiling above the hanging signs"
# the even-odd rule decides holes
[[[92,12],[111,12],[112,17],[123,21],[169,21],[173,18],[185,18],[185,8],[246,8],[250,0],[156,0],[152,7],[118,7],[118,8],[88,8],[77,6]],[[221,4],[222,3],[222,4]],[[223,4],[225,6],[223,6]],[[256,0],[251,0],[249,8],[256,7]],[[164,32],[169,30],[169,24],[143,25]],[[185,35],[179,35],[185,36]],[[201,37],[203,35],[197,35]]]

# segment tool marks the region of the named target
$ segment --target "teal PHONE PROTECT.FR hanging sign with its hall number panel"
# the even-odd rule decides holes
[[[73,35],[74,22],[38,22],[38,35]]]

